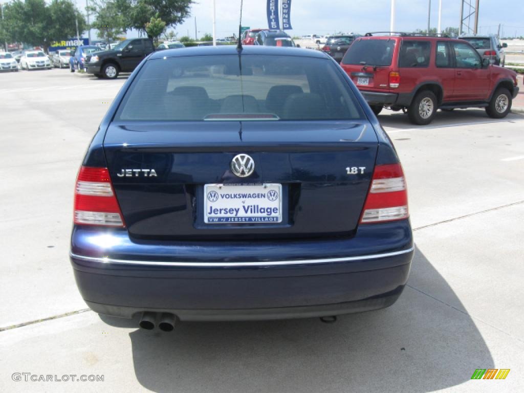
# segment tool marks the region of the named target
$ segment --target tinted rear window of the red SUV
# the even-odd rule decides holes
[[[342,64],[391,65],[395,40],[359,39],[347,50]]]

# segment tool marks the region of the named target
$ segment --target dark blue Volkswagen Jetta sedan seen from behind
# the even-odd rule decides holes
[[[145,329],[333,320],[398,299],[408,217],[395,149],[328,55],[165,50],[91,142],[70,256],[91,309]]]

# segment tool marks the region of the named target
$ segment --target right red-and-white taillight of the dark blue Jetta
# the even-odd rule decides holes
[[[408,193],[402,166],[400,163],[377,165],[361,224],[403,220],[408,216]]]

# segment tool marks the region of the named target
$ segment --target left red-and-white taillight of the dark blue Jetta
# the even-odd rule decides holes
[[[74,190],[74,223],[124,227],[107,168],[80,168]]]

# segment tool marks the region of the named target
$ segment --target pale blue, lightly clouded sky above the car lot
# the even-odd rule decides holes
[[[84,10],[85,0],[76,0]],[[238,34],[241,0],[216,1],[217,38]],[[474,0],[471,0],[474,3]],[[413,31],[426,29],[428,25],[429,0],[396,0],[396,30]],[[174,28],[178,37],[212,32],[213,0],[196,0],[191,16]],[[442,0],[442,28],[459,26],[461,0]],[[479,32],[496,33],[498,24],[503,25],[504,36],[524,36],[524,0],[480,0]],[[333,34],[335,31],[365,33],[389,31],[390,0],[292,0],[291,36],[306,34]],[[439,0],[431,1],[431,27],[438,23]],[[466,12],[464,12],[466,14]],[[473,18],[471,20],[473,27]],[[266,0],[244,0],[243,26],[267,27]],[[136,36],[128,32],[128,37]],[[95,39],[95,34],[93,34]]]

